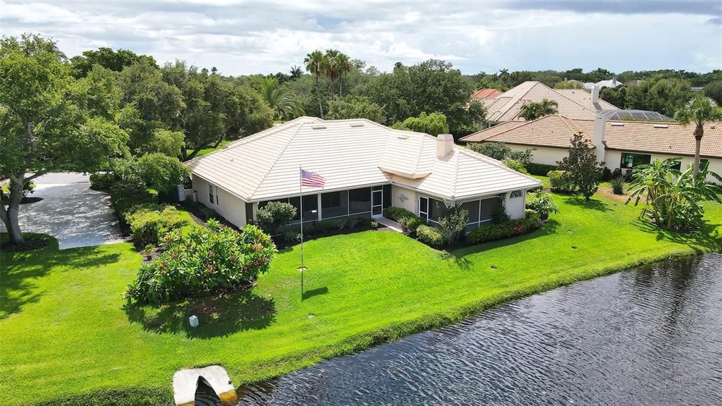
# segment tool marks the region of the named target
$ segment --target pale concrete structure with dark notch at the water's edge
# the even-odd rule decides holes
[[[181,369],[173,375],[173,400],[178,406],[232,405],[235,389],[222,366]]]

